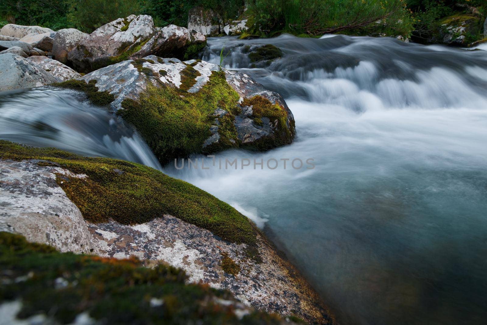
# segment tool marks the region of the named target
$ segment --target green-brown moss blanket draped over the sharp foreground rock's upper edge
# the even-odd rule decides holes
[[[259,230],[252,221],[209,193],[150,167],[110,158],[81,157],[54,148],[25,147],[4,140],[0,140],[0,158],[51,161],[76,174],[86,174],[85,178],[59,174],[57,182],[90,222],[113,219],[122,224],[140,224],[169,213],[224,240],[247,244],[249,255],[259,259],[256,245]]]

